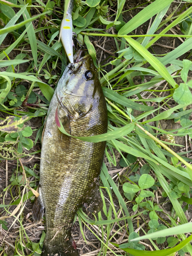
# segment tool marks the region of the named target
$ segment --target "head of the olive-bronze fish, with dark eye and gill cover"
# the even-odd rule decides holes
[[[91,56],[74,56],[74,65],[68,65],[58,82],[56,95],[61,108],[72,115],[89,112],[101,90],[97,70]]]

